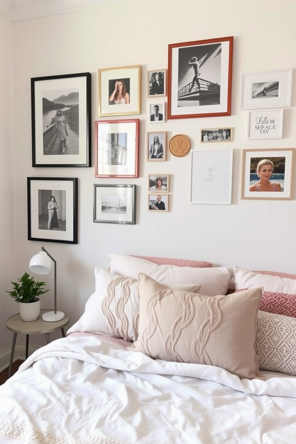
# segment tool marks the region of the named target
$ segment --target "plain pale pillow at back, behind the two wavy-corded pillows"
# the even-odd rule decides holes
[[[201,284],[202,292],[208,296],[225,294],[233,277],[233,269],[228,267],[193,268],[176,265],[158,265],[145,259],[127,254],[109,253],[111,273],[138,278],[139,273],[147,274],[155,281],[176,284]]]

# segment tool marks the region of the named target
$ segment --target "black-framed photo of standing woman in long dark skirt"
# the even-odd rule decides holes
[[[77,178],[28,177],[28,240],[77,244]]]

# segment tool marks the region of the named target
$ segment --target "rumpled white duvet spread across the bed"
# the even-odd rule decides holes
[[[16,443],[295,444],[296,378],[240,380],[66,337],[0,387],[0,444]]]

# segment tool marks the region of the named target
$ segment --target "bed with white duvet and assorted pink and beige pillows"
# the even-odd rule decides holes
[[[296,276],[109,259],[0,387],[1,444],[295,444]]]

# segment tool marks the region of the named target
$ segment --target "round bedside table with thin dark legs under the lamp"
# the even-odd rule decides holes
[[[64,327],[69,324],[69,316],[65,313],[65,317],[61,321],[56,322],[46,322],[42,320],[43,313],[46,313],[50,310],[40,310],[39,318],[36,321],[22,321],[20,318],[20,313],[14,314],[9,317],[6,321],[6,327],[8,330],[13,332],[13,340],[12,340],[12,349],[10,355],[9,369],[8,369],[8,378],[11,375],[12,370],[12,362],[14,349],[16,347],[16,337],[17,333],[22,333],[26,335],[26,359],[28,358],[28,349],[29,349],[29,335],[30,334],[46,334],[46,342],[49,344],[50,338],[49,333],[54,332],[56,330],[62,331],[62,336],[65,337]]]

